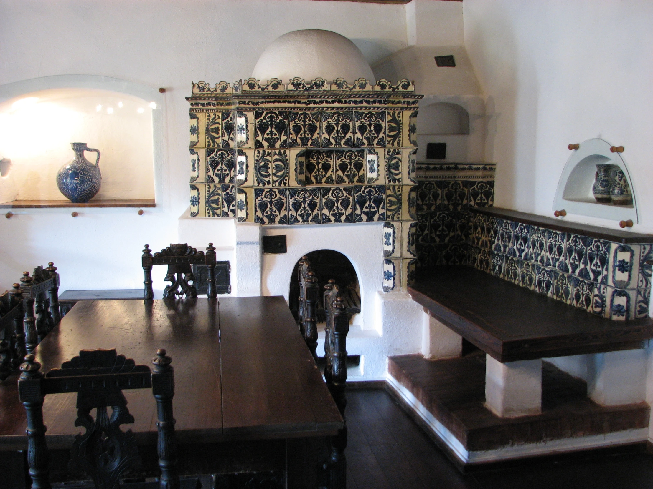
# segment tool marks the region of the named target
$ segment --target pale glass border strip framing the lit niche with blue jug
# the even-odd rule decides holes
[[[142,98],[146,102],[153,102],[150,106],[152,114],[152,151],[154,173],[154,198],[157,207],[148,212],[161,212],[161,198],[163,197],[163,94],[156,87],[129,82],[119,78],[95,75],[54,75],[31,78],[20,82],[0,85],[0,104],[12,98],[29,95],[49,89],[99,89],[114,93],[123,93]],[[1,156],[0,156],[1,158]],[[89,207],[86,213],[130,212],[127,208],[93,208]],[[67,209],[13,209],[14,214],[31,213],[68,213]]]

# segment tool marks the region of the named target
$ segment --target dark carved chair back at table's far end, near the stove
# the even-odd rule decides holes
[[[167,297],[185,295],[186,297],[197,297],[197,286],[195,286],[195,276],[193,276],[193,263],[206,265],[208,269],[208,278],[206,282],[208,297],[217,297],[215,289],[215,246],[209,243],[206,248],[206,254],[203,251],[197,251],[187,243],[170,244],[160,252],[152,254],[150,245],[146,244],[141,258],[143,271],[145,272],[145,290],[144,299],[154,299],[152,290],[152,265],[168,265],[166,282],[172,282],[163,290],[164,299]],[[189,282],[193,282],[189,284]],[[181,288],[181,290],[180,290]]]

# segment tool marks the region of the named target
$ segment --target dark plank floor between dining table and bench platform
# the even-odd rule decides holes
[[[348,489],[653,489],[653,456],[577,454],[461,474],[382,389],[347,391]]]

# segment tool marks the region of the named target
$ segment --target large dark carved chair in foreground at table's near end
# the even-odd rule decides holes
[[[86,473],[98,489],[118,489],[125,470],[137,468],[140,462],[132,431],[120,429],[121,424],[134,422],[122,390],[150,387],[158,413],[159,487],[180,488],[172,417],[174,371],[165,349],[159,349],[152,359],[153,370],[147,365],[136,365],[115,349],[82,350],[78,357],[46,374],[40,372],[40,364],[34,358],[31,354],[25,357],[18,380],[20,402],[27,411],[27,461],[33,489],[50,489],[42,410],[46,394],[77,393],[75,426],[84,426],[86,432],[75,437],[69,471]],[[113,410],[110,417],[108,406]],[[95,419],[91,416],[94,408]]]

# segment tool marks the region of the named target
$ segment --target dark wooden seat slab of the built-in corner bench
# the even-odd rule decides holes
[[[500,362],[643,348],[653,319],[613,321],[461,265],[408,288],[430,314]]]

